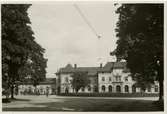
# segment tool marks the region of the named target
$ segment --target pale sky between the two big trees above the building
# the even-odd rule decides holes
[[[28,13],[36,42],[45,49],[46,77],[55,77],[67,64],[100,66],[114,61],[118,15],[113,2],[77,2],[101,38],[92,32],[72,2],[34,3]]]

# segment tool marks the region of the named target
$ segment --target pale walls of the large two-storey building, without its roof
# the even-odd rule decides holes
[[[84,88],[84,91],[82,91],[82,88],[78,91],[79,93],[93,93],[94,92],[94,86],[98,87],[98,92],[112,92],[116,93],[117,86],[120,86],[120,92],[121,93],[132,93],[132,86],[135,84],[135,81],[132,80],[131,74],[128,72],[123,72],[122,69],[114,69],[113,72],[99,72],[97,74],[97,84],[94,83],[94,81],[91,81],[90,83],[90,91],[88,90],[88,87]],[[117,80],[116,76],[120,76],[120,79]],[[103,79],[104,78],[104,79]],[[94,78],[91,78],[91,80]],[[68,88],[68,93],[73,93],[75,90],[72,88],[71,84],[71,73],[66,74],[60,74],[60,92],[65,93],[66,89]],[[155,85],[158,85],[158,82],[155,83]],[[154,86],[155,86],[154,85]],[[105,91],[102,90],[102,86],[105,86]],[[112,91],[109,91],[109,86],[112,87]],[[128,90],[125,91],[125,87],[128,86]],[[149,92],[148,89],[146,89],[146,93],[158,93],[155,92],[155,87],[152,86],[151,91]],[[111,90],[111,89],[110,89]],[[135,88],[135,92],[141,92],[141,89],[139,87]]]

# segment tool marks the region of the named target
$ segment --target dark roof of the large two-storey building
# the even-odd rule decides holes
[[[126,62],[107,62],[104,67],[72,67],[67,64],[66,67],[60,68],[59,73],[88,72],[88,75],[96,75],[97,72],[111,72],[113,69],[126,69]]]

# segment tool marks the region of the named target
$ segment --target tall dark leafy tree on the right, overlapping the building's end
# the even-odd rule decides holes
[[[163,4],[122,4],[116,11],[117,48],[111,54],[125,59],[133,78],[144,87],[159,81],[163,98]]]

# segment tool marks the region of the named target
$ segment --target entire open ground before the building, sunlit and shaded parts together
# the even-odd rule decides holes
[[[3,103],[3,111],[161,111],[157,97],[61,97],[17,96]]]

